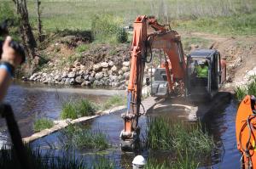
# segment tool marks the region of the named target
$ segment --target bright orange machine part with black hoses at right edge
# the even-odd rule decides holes
[[[236,114],[236,143],[241,152],[241,168],[256,169],[256,98],[247,95]]]

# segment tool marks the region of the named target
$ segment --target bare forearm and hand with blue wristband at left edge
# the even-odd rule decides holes
[[[20,54],[10,47],[11,42],[11,37],[6,37],[3,42],[3,54],[0,60],[0,102],[3,101],[8,87],[14,78],[15,69],[22,63]]]

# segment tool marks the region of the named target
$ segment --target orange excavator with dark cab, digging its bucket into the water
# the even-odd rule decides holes
[[[170,25],[160,25],[152,16],[138,16],[134,22],[131,43],[127,111],[122,115],[122,149],[134,149],[139,142],[138,120],[141,115],[143,73],[145,63],[152,60],[152,49],[163,51],[165,68],[155,70],[151,95],[168,97],[176,93],[188,99],[211,99],[225,81],[225,63],[217,50],[201,49],[186,57],[181,36]],[[207,76],[196,75],[196,66],[201,65],[207,65]]]

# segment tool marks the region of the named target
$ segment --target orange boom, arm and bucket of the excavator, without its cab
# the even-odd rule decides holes
[[[122,115],[124,130],[120,134],[122,149],[135,149],[139,141],[138,118],[143,88],[143,73],[147,62],[148,49],[162,49],[172,65],[172,72],[166,59],[166,76],[169,91],[174,90],[174,84],[184,83],[186,64],[182,43],[176,31],[169,30],[166,25],[160,25],[154,17],[145,15],[137,17],[134,22],[131,43],[131,71],[127,93],[127,111]],[[151,51],[151,50],[149,50]],[[171,76],[172,75],[172,76]],[[184,85],[179,85],[183,87]]]

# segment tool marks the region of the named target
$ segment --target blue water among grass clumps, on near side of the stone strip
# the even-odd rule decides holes
[[[123,110],[124,112],[125,110]],[[155,112],[155,111],[154,111]],[[76,149],[75,153],[79,158],[83,158],[87,163],[91,161],[97,161],[99,157],[105,155],[111,161],[115,161],[115,164],[119,168],[131,168],[131,161],[136,155],[135,153],[124,153],[119,149],[119,133],[123,129],[123,121],[120,118],[121,112],[116,112],[112,115],[105,115],[88,122],[92,130],[101,129],[103,132],[107,133],[109,140],[113,145],[113,149],[108,149],[105,152],[100,152],[95,154],[90,151],[84,151],[81,149]],[[178,111],[162,111],[157,112],[157,115],[165,115],[172,120],[177,119],[177,116],[185,115],[183,112]],[[153,116],[156,113],[151,114]],[[149,116],[151,116],[149,115]],[[141,116],[140,126],[142,127],[142,140],[145,137],[145,125],[148,116]],[[206,123],[208,132],[211,132],[215,138],[218,145],[218,149],[214,150],[209,158],[202,159],[200,168],[239,168],[240,155],[236,150],[236,137],[235,137],[235,118],[236,118],[236,103],[231,102],[221,108],[218,111],[211,112],[204,119]],[[57,143],[57,138],[61,137],[61,132],[55,132],[55,134],[48,137],[39,139],[32,143],[34,146],[40,145],[42,149],[47,149],[51,147],[52,149],[58,149],[59,144]],[[69,154],[71,152],[62,150],[53,150],[57,155]],[[164,154],[163,152],[148,152],[143,150],[138,152],[144,157],[148,158],[150,155],[158,159],[170,159],[169,153]]]

